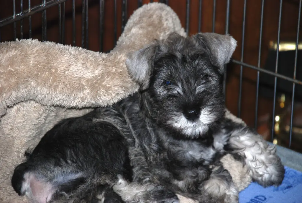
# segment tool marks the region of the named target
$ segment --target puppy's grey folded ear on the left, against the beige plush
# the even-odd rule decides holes
[[[158,44],[150,44],[138,51],[130,53],[126,66],[132,79],[140,85],[141,90],[149,87]]]

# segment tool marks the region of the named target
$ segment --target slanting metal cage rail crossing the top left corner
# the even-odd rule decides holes
[[[8,18],[4,18],[0,21],[0,28],[5,26],[5,25],[8,25],[10,23],[21,20],[23,18],[29,17],[29,16],[37,13],[37,12],[43,11],[43,10],[49,8],[49,7],[54,6],[54,5],[66,2],[66,1],[67,0],[50,0],[50,1],[46,2],[45,5],[43,5],[43,3],[42,3],[40,5],[36,5],[34,7],[31,7],[30,11],[29,10],[23,11],[23,13],[19,12],[18,14],[16,14],[15,17],[10,16]]]

